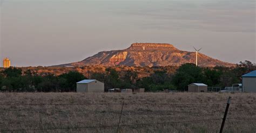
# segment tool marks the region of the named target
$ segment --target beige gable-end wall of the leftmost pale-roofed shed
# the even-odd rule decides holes
[[[104,93],[104,83],[94,81],[88,83],[88,93]]]

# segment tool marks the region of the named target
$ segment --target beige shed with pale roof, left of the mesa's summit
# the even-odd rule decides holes
[[[82,80],[77,82],[78,93],[104,93],[104,83],[98,80]]]

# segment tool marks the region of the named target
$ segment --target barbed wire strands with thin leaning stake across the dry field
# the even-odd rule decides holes
[[[157,122],[157,123],[133,123],[133,124],[120,124],[122,121],[123,109],[125,106],[210,106],[210,105],[225,105],[227,103],[187,103],[187,104],[172,104],[172,103],[40,103],[40,104],[18,104],[18,103],[6,103],[0,104],[0,106],[120,106],[122,109],[119,114],[119,122],[116,125],[92,125],[86,127],[54,127],[54,128],[38,128],[38,129],[0,129],[0,132],[20,132],[20,131],[48,131],[48,130],[70,130],[70,129],[98,129],[98,128],[117,128],[117,132],[119,132],[120,127],[138,127],[138,126],[150,126],[150,125],[167,125],[167,124],[177,124],[177,123],[196,123],[202,121],[220,121],[224,120],[224,118],[210,118],[210,119],[200,119],[200,120],[190,120],[190,121],[174,121],[174,122]],[[254,102],[247,103],[230,103],[232,104],[256,104]],[[21,110],[0,110],[0,111],[21,111]],[[107,112],[105,112],[107,113]],[[237,121],[256,121],[256,118],[226,118],[227,120],[237,120]]]

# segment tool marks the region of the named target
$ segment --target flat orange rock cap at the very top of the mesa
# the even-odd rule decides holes
[[[159,43],[134,43],[127,50],[132,51],[151,51],[151,50],[178,50],[171,44],[159,44]]]

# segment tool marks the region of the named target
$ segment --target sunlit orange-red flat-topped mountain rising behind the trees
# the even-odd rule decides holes
[[[171,44],[134,43],[125,50],[99,52],[83,61],[66,65],[85,66],[180,66],[194,63],[195,52],[180,51]],[[204,67],[233,66],[228,62],[198,54],[198,64]]]

